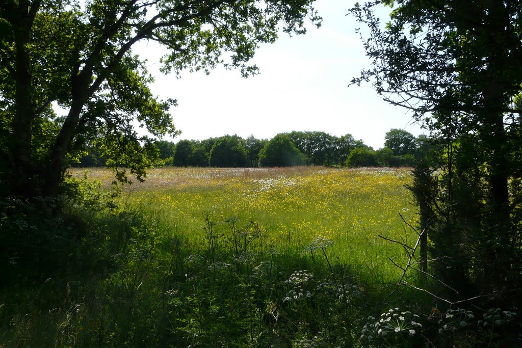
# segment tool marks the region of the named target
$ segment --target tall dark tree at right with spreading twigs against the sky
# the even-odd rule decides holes
[[[352,83],[372,81],[444,147],[434,162],[443,169],[439,189],[417,190],[436,195],[423,201],[438,207],[432,258],[452,257],[435,264],[440,279],[460,294],[502,297],[521,280],[520,215],[512,204],[520,199],[512,186],[520,162],[511,154],[520,151],[514,97],[522,66],[514,62],[522,58],[522,4],[386,1],[396,6],[384,29],[375,4],[351,10],[369,25],[364,45],[373,65]]]

